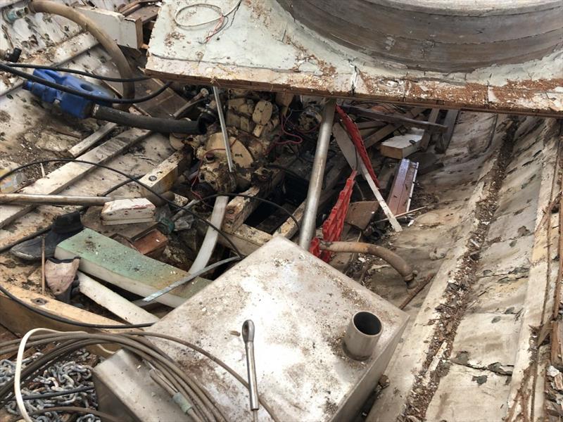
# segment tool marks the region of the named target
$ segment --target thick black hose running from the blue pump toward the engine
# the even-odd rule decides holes
[[[153,132],[175,133],[189,135],[203,135],[207,132],[207,126],[203,120],[191,122],[190,120],[161,119],[158,117],[134,115],[115,108],[94,106],[92,117],[107,122],[122,124],[123,126],[139,127]]]

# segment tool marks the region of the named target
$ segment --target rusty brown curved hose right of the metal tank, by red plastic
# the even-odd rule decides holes
[[[328,250],[329,252],[351,252],[373,255],[374,257],[381,258],[396,269],[397,272],[403,276],[407,286],[410,287],[410,283],[415,279],[416,274],[410,264],[407,264],[407,262],[395,252],[383,246],[362,242],[321,242],[320,249]]]

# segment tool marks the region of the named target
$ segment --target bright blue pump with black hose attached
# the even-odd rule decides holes
[[[90,84],[89,82],[86,82],[84,81],[84,79],[80,79],[79,77],[72,75],[62,75],[59,72],[48,69],[36,69],[34,70],[33,75],[42,79],[46,79],[49,82],[54,82],[59,85],[64,85],[68,88],[76,89],[77,91],[82,91],[85,94],[112,98],[108,91],[105,91],[97,85]],[[63,110],[63,112],[80,119],[89,117],[93,103],[100,104],[101,106],[111,106],[110,101],[91,101],[87,98],[82,98],[81,96],[68,94],[67,92],[47,87],[46,85],[39,82],[25,81],[23,84],[23,89],[31,91],[32,94],[38,96],[42,99],[42,101],[45,101],[46,103],[57,103],[58,106],[61,107],[61,110]]]

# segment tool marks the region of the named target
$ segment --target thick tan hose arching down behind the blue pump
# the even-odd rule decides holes
[[[72,20],[72,22],[80,25],[82,29],[90,32],[98,40],[98,42],[103,46],[104,49],[111,56],[113,63],[118,68],[119,74],[122,79],[132,79],[133,71],[129,66],[129,62],[125,55],[120,50],[118,44],[113,40],[110,35],[99,27],[94,20],[91,20],[84,14],[77,11],[75,8],[67,6],[63,3],[57,3],[55,1],[49,0],[33,0],[27,6],[32,13],[51,13],[52,15],[63,16]],[[123,85],[123,98],[134,98],[135,96],[135,86],[132,82],[122,82]],[[123,106],[127,108],[127,106]]]

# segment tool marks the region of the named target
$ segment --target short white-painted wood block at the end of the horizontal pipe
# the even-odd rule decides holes
[[[153,222],[156,207],[146,198],[118,199],[103,205],[102,224],[132,224]]]

